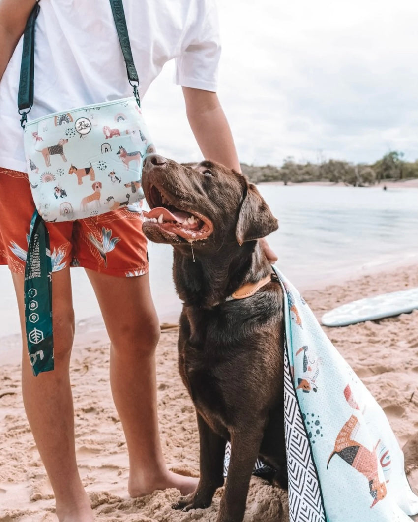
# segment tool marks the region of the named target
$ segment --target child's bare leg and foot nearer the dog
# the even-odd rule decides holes
[[[166,488],[191,493],[198,480],[172,473],[162,456],[155,363],[160,328],[148,274],[124,278],[86,272],[111,341],[110,383],[129,452],[129,493]]]

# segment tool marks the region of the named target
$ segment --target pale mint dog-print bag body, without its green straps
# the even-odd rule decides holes
[[[136,203],[154,147],[135,98],[56,113],[25,126],[28,176],[45,221],[97,216]]]

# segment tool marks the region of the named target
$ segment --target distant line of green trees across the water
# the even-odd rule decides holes
[[[383,158],[370,165],[340,160],[296,163],[292,157],[288,157],[282,167],[274,165],[254,167],[241,163],[241,168],[253,183],[282,181],[286,185],[308,181],[329,181],[353,186],[369,186],[384,180],[418,178],[418,160],[404,161],[403,156],[403,152],[388,152]]]

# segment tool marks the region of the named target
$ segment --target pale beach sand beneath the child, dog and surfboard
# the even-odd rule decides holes
[[[412,287],[418,287],[418,271],[404,267],[309,290],[304,297],[319,318],[324,311],[362,296]],[[324,329],[385,410],[418,492],[418,310]],[[198,476],[194,408],[177,372],[176,339],[176,330],[164,331],[157,349],[162,446],[170,469]],[[18,339],[8,342],[13,345]],[[174,489],[136,500],[127,494],[126,444],[110,395],[108,345],[103,330],[80,329],[72,358],[77,458],[96,520],[214,522],[222,489],[212,507],[187,514],[171,509],[179,496]],[[19,372],[19,364],[12,361],[6,366],[0,361],[0,521],[52,522],[56,521],[53,495],[26,421]],[[288,520],[286,493],[261,479],[252,478],[247,506],[245,522]]]

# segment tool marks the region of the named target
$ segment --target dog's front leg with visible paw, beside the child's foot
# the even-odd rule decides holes
[[[200,480],[190,495],[181,497],[174,509],[198,509],[209,507],[217,488],[224,483],[224,438],[217,435],[197,413],[200,441]]]

